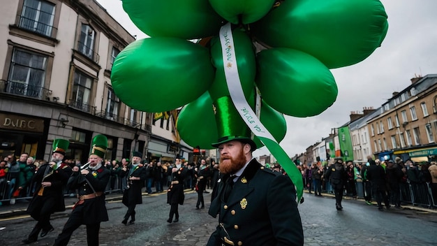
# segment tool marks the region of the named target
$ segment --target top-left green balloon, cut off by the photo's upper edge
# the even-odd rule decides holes
[[[123,8],[152,37],[205,38],[216,35],[223,21],[205,0],[123,0]]]

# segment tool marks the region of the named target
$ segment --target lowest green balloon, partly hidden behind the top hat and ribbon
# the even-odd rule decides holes
[[[253,102],[252,94],[249,105],[253,106]],[[188,145],[193,147],[199,145],[206,150],[214,148],[211,144],[217,142],[218,131],[212,103],[211,96],[205,92],[198,99],[184,106],[179,113],[177,131]],[[287,126],[283,114],[269,107],[265,101],[261,104],[260,121],[276,141],[280,142],[286,136]],[[258,147],[262,147],[258,138],[255,137],[253,140]]]

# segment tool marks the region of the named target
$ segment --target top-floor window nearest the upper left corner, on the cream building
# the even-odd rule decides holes
[[[19,27],[52,36],[54,5],[47,1],[24,0]]]

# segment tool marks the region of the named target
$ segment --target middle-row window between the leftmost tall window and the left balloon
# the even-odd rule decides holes
[[[70,105],[74,108],[91,113],[93,107],[89,106],[91,85],[93,79],[81,71],[75,70],[73,95]]]

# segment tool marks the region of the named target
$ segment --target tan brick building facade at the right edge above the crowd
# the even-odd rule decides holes
[[[380,159],[436,160],[437,75],[411,81],[383,104],[380,115],[367,122],[373,154]]]

